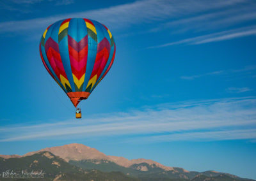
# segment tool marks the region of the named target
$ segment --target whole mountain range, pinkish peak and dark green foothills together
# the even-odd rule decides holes
[[[35,180],[24,171],[43,171],[40,180],[249,180],[218,171],[188,171],[183,168],[164,166],[150,159],[126,159],[124,157],[106,156],[95,148],[79,143],[60,147],[44,148],[28,152],[23,156],[0,155],[0,171],[13,171],[18,177],[4,180]],[[22,173],[23,171],[23,173]],[[2,174],[2,176],[3,176]],[[7,173],[5,175],[8,175]],[[10,175],[10,174],[9,174]],[[24,177],[20,177],[23,175]],[[36,174],[34,174],[36,175]],[[38,175],[37,175],[38,176]],[[42,176],[42,175],[39,175]],[[0,178],[1,180],[1,178]]]

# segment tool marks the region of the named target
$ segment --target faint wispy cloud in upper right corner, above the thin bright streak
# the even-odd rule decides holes
[[[244,1],[248,3],[248,1]],[[185,31],[207,31],[223,29],[232,25],[241,24],[256,19],[256,3],[248,3],[246,6],[232,6],[218,11],[206,12],[192,17],[170,20],[150,29],[152,32],[169,29],[170,32],[184,33]],[[173,29],[175,31],[173,31]]]

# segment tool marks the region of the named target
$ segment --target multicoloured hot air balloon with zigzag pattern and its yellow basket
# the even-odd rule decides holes
[[[108,73],[116,45],[105,25],[86,18],[68,18],[45,29],[39,49],[48,73],[77,108]],[[79,108],[76,117],[81,118]]]

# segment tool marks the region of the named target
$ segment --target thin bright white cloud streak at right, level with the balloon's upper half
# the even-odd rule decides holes
[[[212,34],[206,34],[203,36],[196,36],[193,38],[187,38],[184,40],[179,41],[172,41],[170,43],[164,43],[162,45],[156,45],[152,47],[147,48],[162,48],[162,47],[169,47],[172,45],[199,45],[204,43],[210,43],[215,41],[223,41],[223,40],[230,40],[234,38],[240,38],[243,36],[251,36],[256,34],[256,26],[250,26],[250,27],[243,27],[239,29],[232,29],[229,31],[221,31],[220,33],[212,33]]]

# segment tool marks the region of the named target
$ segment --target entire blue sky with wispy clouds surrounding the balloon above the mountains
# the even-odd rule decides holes
[[[108,155],[256,179],[255,1],[0,2],[0,154],[83,143]],[[44,29],[84,17],[116,41],[74,106],[45,70]]]

